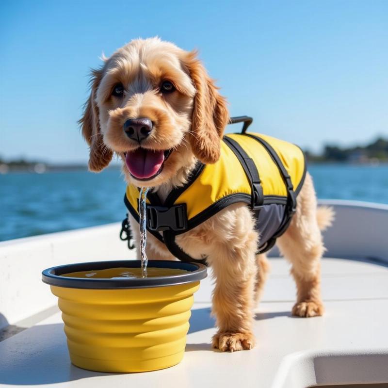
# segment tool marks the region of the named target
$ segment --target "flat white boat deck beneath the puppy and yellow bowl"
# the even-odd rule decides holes
[[[62,239],[64,235],[53,235],[53,239]],[[27,240],[28,244],[34,242]],[[51,248],[58,243],[52,242]],[[387,243],[382,242],[382,246]],[[12,249],[8,244],[8,252]],[[0,260],[6,262],[10,258],[5,254]],[[121,258],[117,251],[114,259]],[[16,311],[16,307],[7,305],[8,316],[14,320],[9,319],[13,325],[5,331],[9,338],[0,342],[0,387],[306,388],[317,384],[387,383],[387,258],[388,255],[374,261],[324,258],[322,289],[326,313],[314,318],[291,317],[295,286],[289,265],[284,259],[272,258],[271,275],[256,310],[257,346],[235,353],[210,348],[215,328],[210,317],[208,277],[194,296],[183,361],[156,372],[109,374],[79,369],[70,363],[63,323],[58,309],[50,307],[51,296],[47,300],[42,296],[41,307],[46,310],[39,314],[31,314],[26,304],[30,317],[23,315],[20,308]],[[51,259],[51,265],[57,265],[56,261]],[[66,262],[70,260],[61,263]],[[39,265],[39,269],[49,266],[45,264]],[[34,276],[40,281],[38,272]],[[31,294],[41,295],[40,289],[41,284],[36,282],[36,290],[31,288]],[[45,297],[46,293],[49,295],[47,285],[43,285],[42,291]],[[20,326],[31,327],[11,335],[12,331],[21,330]]]

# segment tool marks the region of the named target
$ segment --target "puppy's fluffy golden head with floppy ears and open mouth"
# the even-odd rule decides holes
[[[159,38],[133,40],[94,70],[80,122],[90,145],[89,169],[117,153],[136,186],[158,186],[193,165],[214,163],[228,120],[195,52]]]

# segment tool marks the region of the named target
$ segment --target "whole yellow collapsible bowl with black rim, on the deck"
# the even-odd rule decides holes
[[[148,268],[187,272],[148,278],[61,276],[139,267],[139,260],[120,260],[69,264],[42,272],[42,280],[58,296],[74,365],[98,372],[147,372],[182,360],[193,294],[207,275],[206,266],[149,260]]]

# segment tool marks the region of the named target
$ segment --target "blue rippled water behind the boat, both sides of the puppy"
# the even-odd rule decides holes
[[[388,204],[388,165],[321,164],[308,170],[319,198]],[[0,175],[0,241],[122,221],[124,193],[118,169]]]

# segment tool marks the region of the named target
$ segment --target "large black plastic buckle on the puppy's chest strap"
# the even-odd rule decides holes
[[[186,204],[181,203],[171,208],[147,205],[147,227],[150,230],[185,230],[187,229]]]

